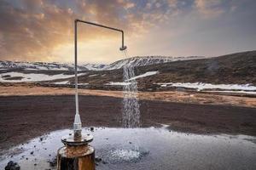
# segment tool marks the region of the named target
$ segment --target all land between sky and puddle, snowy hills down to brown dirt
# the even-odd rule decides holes
[[[0,150],[72,125],[72,64],[0,65]],[[124,65],[135,67],[132,79],[137,80],[143,127],[166,124],[186,133],[256,135],[256,51],[79,65],[79,109],[85,126],[121,126],[120,90],[128,83]]]

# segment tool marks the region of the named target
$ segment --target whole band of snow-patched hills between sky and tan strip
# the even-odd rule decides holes
[[[121,90],[133,65],[140,91],[211,90],[256,94],[256,51],[218,57],[134,57],[110,65],[79,65],[79,87]],[[73,88],[73,64],[0,62],[0,83]]]

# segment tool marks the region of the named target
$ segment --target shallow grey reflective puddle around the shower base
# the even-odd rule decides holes
[[[72,132],[60,130],[20,144],[0,156],[0,169],[18,162],[20,169],[56,169],[49,166],[61,137]],[[91,133],[96,156],[102,158],[96,169],[255,169],[255,137],[245,135],[199,135],[177,133],[166,127],[95,127]],[[18,151],[17,151],[18,150]],[[15,153],[15,154],[14,154]]]

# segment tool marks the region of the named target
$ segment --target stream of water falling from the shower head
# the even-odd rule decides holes
[[[125,59],[128,58],[127,51],[123,51]],[[137,99],[137,81],[135,77],[134,66],[130,63],[124,66],[123,87],[123,127],[133,128],[140,127],[140,108]]]

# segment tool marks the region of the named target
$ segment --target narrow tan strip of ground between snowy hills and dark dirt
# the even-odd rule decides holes
[[[0,86],[0,96],[24,95],[73,95],[73,88],[46,88],[29,85]],[[79,89],[80,95],[96,95],[123,98],[122,91]],[[256,96],[241,97],[221,94],[205,94],[197,92],[140,92],[140,99],[171,101],[177,103],[234,105],[256,108]]]

